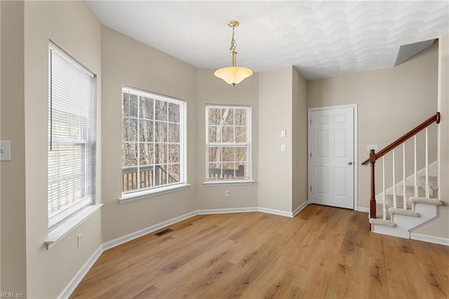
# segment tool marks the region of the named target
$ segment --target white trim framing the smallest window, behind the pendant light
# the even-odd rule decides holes
[[[209,127],[209,119],[208,119],[208,108],[210,107],[217,107],[217,108],[222,108],[222,107],[228,107],[228,108],[236,108],[236,109],[241,109],[241,108],[248,108],[248,115],[247,115],[247,119],[246,119],[246,136],[248,138],[249,136],[249,140],[247,139],[246,144],[248,145],[248,151],[246,152],[247,154],[247,163],[248,163],[248,178],[246,179],[236,179],[236,178],[230,178],[230,179],[221,179],[221,180],[209,180],[206,176],[206,179],[203,182],[204,186],[217,186],[217,185],[253,185],[255,183],[255,181],[253,180],[253,159],[252,159],[252,148],[253,148],[253,133],[252,133],[252,129],[251,129],[251,124],[253,122],[253,117],[252,117],[252,109],[249,105],[219,105],[219,104],[207,104],[206,103],[206,108],[205,108],[205,115],[206,115],[206,167],[205,167],[205,173],[208,173],[209,171],[209,167],[208,167],[208,159],[209,159],[209,155],[208,155],[208,146],[210,145],[210,143],[208,142],[208,138],[209,138],[209,131],[208,131],[208,127]],[[234,145],[234,143],[230,143],[229,145]]]

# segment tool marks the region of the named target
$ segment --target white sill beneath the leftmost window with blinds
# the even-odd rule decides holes
[[[103,204],[93,204],[84,208],[81,212],[74,215],[72,218],[62,223],[58,227],[56,227],[51,232],[48,232],[47,239],[43,242],[46,245],[47,250],[51,248],[51,246],[55,245],[62,237],[65,237],[69,232],[72,232],[75,227],[78,227],[84,220],[89,218],[95,211],[101,208]]]

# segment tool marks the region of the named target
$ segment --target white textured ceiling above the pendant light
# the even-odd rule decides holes
[[[294,65],[306,79],[394,67],[401,45],[449,32],[449,1],[88,1],[103,25],[195,67],[262,72]],[[151,66],[149,66],[151,67]]]

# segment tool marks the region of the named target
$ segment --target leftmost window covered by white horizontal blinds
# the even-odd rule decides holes
[[[96,78],[48,47],[48,230],[95,201]]]

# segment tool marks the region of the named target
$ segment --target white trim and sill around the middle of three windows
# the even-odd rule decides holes
[[[182,102],[182,114],[180,114],[180,124],[182,124],[182,128],[184,130],[181,131],[181,139],[180,139],[180,166],[182,166],[183,171],[180,171],[180,180],[182,182],[170,184],[170,185],[162,185],[162,186],[156,186],[151,187],[143,190],[133,190],[130,192],[123,192],[121,191],[121,197],[119,197],[119,202],[121,204],[130,202],[130,201],[138,201],[141,199],[147,199],[149,197],[156,197],[162,194],[167,194],[171,192],[176,192],[180,190],[187,189],[190,184],[187,183],[187,102],[185,100],[182,100],[180,98],[173,98],[169,95],[162,95],[160,93],[154,93],[152,91],[144,91],[140,88],[136,88],[133,86],[122,86],[122,92],[125,89],[130,89],[134,93],[137,93],[138,95],[142,95],[147,97],[148,95],[152,95],[154,99],[158,100],[165,100],[168,102]],[[123,98],[122,98],[123,100]],[[123,111],[122,111],[123,113]],[[123,121],[123,115],[122,115],[122,121]],[[123,144],[123,140],[121,141]],[[121,169],[123,169],[123,166],[121,166]]]

